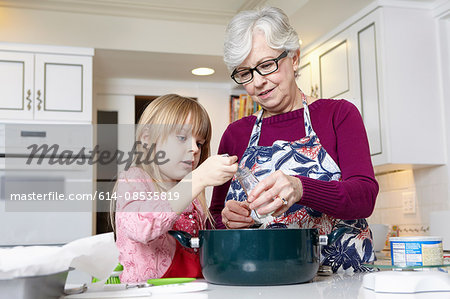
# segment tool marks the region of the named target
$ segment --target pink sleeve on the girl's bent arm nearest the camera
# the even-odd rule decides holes
[[[165,200],[142,200],[156,191],[150,177],[139,168],[121,173],[116,195],[116,229],[140,243],[167,233],[179,218]]]

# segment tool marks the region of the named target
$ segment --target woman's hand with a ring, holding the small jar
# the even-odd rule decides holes
[[[256,209],[262,215],[274,212],[272,216],[277,217],[298,202],[302,196],[302,182],[277,170],[260,181],[250,192],[247,200],[250,209]]]

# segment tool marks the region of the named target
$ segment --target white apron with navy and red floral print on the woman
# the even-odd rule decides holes
[[[261,135],[262,114],[257,116],[247,149],[239,167],[249,168],[261,181],[276,170],[286,175],[300,175],[321,181],[341,180],[341,171],[333,158],[320,144],[309,116],[306,97],[302,93],[306,136],[297,141],[275,141],[272,146],[258,146]],[[236,176],[233,177],[225,201],[245,201],[247,196]],[[370,271],[362,264],[374,260],[372,238],[366,219],[340,220],[325,213],[294,204],[282,216],[274,218],[273,227],[317,228],[320,234],[329,234],[339,227],[351,228],[333,245],[323,246],[320,261],[331,266],[333,272],[342,270]]]

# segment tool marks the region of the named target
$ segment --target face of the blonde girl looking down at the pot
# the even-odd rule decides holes
[[[200,161],[202,145],[205,140],[192,136],[190,116],[181,130],[167,136],[163,142],[156,144],[156,151],[165,152],[164,160],[168,162],[159,165],[163,179],[168,182],[182,180],[189,172],[195,169]]]

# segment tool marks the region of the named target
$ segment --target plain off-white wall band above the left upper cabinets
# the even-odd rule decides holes
[[[224,32],[225,25],[0,7],[4,42],[222,55]]]

